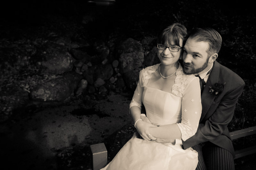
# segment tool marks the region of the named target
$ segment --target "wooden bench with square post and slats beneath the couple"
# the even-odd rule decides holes
[[[230,132],[230,137],[232,140],[234,140],[240,137],[245,137],[253,134],[256,134],[256,126]],[[103,168],[104,166],[106,166],[108,157],[107,157],[107,149],[104,143],[93,144],[90,147],[92,150],[93,170],[99,170],[100,168]],[[235,159],[244,157],[252,153],[256,153],[256,145],[236,151]]]

